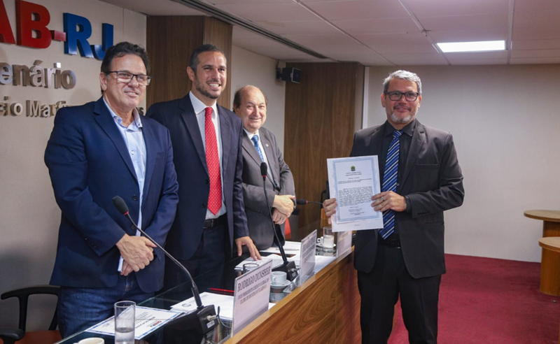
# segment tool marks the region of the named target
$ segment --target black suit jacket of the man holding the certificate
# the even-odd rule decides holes
[[[351,156],[381,157],[384,126],[362,129],[354,136]],[[383,180],[382,163],[379,164]],[[397,193],[408,196],[412,211],[395,213],[402,255],[414,278],[445,273],[443,211],[463,204],[463,175],[451,134],[416,120]],[[354,266],[370,272],[375,263],[377,231],[358,231]]]

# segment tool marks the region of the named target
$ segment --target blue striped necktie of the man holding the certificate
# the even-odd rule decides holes
[[[402,131],[393,131],[393,141],[389,145],[387,151],[387,159],[385,160],[385,173],[383,174],[383,185],[381,185],[381,192],[397,191],[397,175],[398,175],[398,153],[400,150],[400,143],[398,138],[402,135]],[[383,228],[379,229],[381,238],[386,239],[395,231],[395,212],[391,209],[385,210],[383,213]]]

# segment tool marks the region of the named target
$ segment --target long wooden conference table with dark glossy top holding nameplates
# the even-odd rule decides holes
[[[319,223],[314,222],[310,226],[318,227]],[[210,288],[233,290],[235,278],[240,274],[235,266],[248,257],[235,257],[223,266],[198,275],[195,282],[199,291],[209,292]],[[227,321],[224,321],[225,326],[219,324],[209,334],[202,336],[182,328],[180,320],[177,320],[175,324],[168,324],[136,343],[359,343],[360,297],[352,261],[353,250],[349,250],[304,282],[298,278],[292,291],[284,293],[283,299],[274,307],[235,336],[230,334],[230,322]],[[172,305],[193,296],[190,287],[189,282],[183,283],[139,303],[139,306],[169,310]],[[86,331],[58,343],[73,344],[90,337],[102,337],[105,344],[114,343],[112,336]]]

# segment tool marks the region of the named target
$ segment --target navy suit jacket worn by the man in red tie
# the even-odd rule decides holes
[[[230,252],[227,253],[231,255],[233,240],[249,235],[241,189],[243,127],[237,115],[222,106],[217,108],[223,152],[222,188],[229,232]],[[179,180],[179,206],[166,249],[177,259],[190,259],[202,238],[210,193],[206,152],[195,110],[187,94],[181,99],[153,104],[146,115],[169,129]]]

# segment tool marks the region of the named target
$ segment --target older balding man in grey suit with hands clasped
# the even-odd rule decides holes
[[[292,172],[276,144],[276,137],[262,127],[267,120],[267,98],[258,87],[241,87],[235,92],[233,110],[243,121],[243,197],[249,236],[259,250],[272,246],[274,233],[270,213],[281,241],[276,245],[283,245],[284,222],[295,205],[295,186]],[[268,206],[262,189],[262,162],[268,166],[265,183]]]

